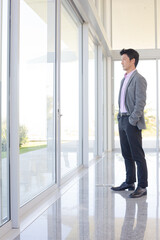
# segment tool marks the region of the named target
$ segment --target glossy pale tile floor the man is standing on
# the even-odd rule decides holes
[[[123,158],[110,153],[65,192],[14,240],[160,239],[159,154],[146,153],[148,195],[128,198],[110,190],[125,179]]]

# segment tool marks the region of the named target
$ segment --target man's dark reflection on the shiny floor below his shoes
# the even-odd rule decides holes
[[[143,199],[131,200],[126,199],[126,212],[121,230],[120,240],[144,239],[144,233],[147,223],[148,203],[146,197]],[[137,218],[136,214],[137,205]]]

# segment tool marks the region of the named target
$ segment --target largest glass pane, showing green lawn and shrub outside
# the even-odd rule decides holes
[[[20,203],[55,183],[55,1],[20,1]]]

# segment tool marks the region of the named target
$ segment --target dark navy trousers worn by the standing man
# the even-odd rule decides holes
[[[145,188],[148,186],[148,173],[142,148],[141,130],[129,123],[128,116],[122,116],[118,123],[122,156],[124,157],[126,167],[126,182],[136,182],[136,163],[138,186]]]

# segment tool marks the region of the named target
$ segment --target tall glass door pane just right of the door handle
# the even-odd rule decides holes
[[[68,6],[61,7],[61,176],[81,163],[81,23]]]

